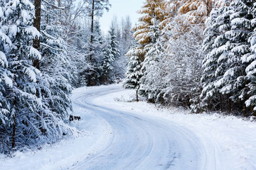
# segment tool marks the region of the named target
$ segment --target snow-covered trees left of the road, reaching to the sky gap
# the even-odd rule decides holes
[[[125,73],[129,17],[102,35],[108,0],[0,1],[0,153],[77,132],[66,123],[74,87],[110,84]]]

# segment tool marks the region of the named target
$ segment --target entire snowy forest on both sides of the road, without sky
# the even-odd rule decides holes
[[[110,2],[0,1],[1,153],[77,135],[72,90],[122,79],[137,100],[255,115],[254,0],[145,0],[103,35]]]

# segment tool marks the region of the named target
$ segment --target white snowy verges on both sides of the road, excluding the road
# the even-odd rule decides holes
[[[155,120],[165,120],[193,132],[206,148],[202,159],[214,158],[218,170],[255,170],[256,169],[256,123],[234,116],[218,114],[188,114],[178,108],[160,109],[146,102],[133,102],[135,91],[121,90],[119,84],[100,87],[84,87],[73,91],[73,99],[87,91],[97,89],[120,88],[105,96],[95,98],[93,103],[128,111]],[[40,150],[16,152],[15,157],[0,154],[1,170],[30,169],[72,169],[88,157],[101,152],[112,139],[112,127],[100,115],[74,105],[74,115],[81,115],[82,120],[71,125],[85,130],[82,137],[62,140],[53,145],[44,145]],[[211,169],[206,167],[205,169]],[[132,170],[132,169],[131,169]],[[148,169],[142,169],[148,170]],[[181,169],[184,170],[184,169]],[[186,169],[190,170],[190,169]],[[198,170],[198,169],[191,169]]]

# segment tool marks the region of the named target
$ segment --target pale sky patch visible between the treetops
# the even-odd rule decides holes
[[[130,16],[131,22],[137,23],[139,14],[137,11],[143,6],[145,0],[110,0],[112,7],[110,11],[104,11],[102,18],[100,18],[100,26],[104,33],[110,28],[110,24],[114,16],[117,16],[118,21],[122,18]]]

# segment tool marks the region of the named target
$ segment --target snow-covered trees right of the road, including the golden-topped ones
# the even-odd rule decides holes
[[[146,0],[124,87],[152,103],[255,115],[253,0]]]

